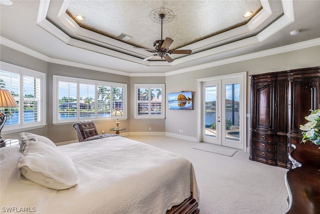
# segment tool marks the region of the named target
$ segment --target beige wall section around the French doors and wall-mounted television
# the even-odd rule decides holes
[[[246,60],[242,62],[230,63],[227,65],[216,66],[196,70],[188,73],[166,76],[166,93],[179,91],[194,91],[194,110],[174,111],[166,110],[165,131],[173,134],[179,133],[179,129],[183,129],[185,136],[196,137],[196,103],[198,94],[196,93],[196,79],[214,77],[220,75],[234,74],[239,72],[247,72],[247,75],[260,74],[266,72],[283,71],[295,68],[306,68],[320,66],[320,46]],[[247,113],[250,113],[250,83],[247,78]],[[166,107],[167,109],[167,107]],[[249,119],[247,119],[249,121]],[[247,130],[249,123],[247,122]],[[184,131],[186,130],[186,131]],[[248,138],[248,136],[247,136]]]

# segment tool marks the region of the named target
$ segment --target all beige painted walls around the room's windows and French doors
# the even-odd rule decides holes
[[[196,137],[196,100],[198,96],[196,92],[196,79],[233,74],[244,71],[247,72],[247,75],[252,75],[295,68],[314,67],[320,65],[320,46],[317,46],[283,54],[191,71],[183,74],[169,75],[165,77],[127,77],[99,71],[92,71],[88,69],[47,63],[45,61],[28,56],[5,46],[1,46],[0,48],[1,61],[46,73],[46,122],[48,125],[44,128],[32,129],[29,131],[32,133],[48,136],[55,143],[75,140],[77,139],[77,137],[75,131],[72,129],[72,124],[52,124],[52,75],[126,83],[128,93],[128,119],[120,121],[120,126],[127,128],[127,130],[125,130],[126,132],[149,132],[149,127],[151,127],[151,132],[168,132],[172,134]],[[133,118],[135,83],[165,83],[166,96],[167,93],[170,92],[193,91],[194,110],[168,110],[168,106],[166,103],[166,118],[164,120],[136,120]],[[247,81],[247,113],[249,113],[250,111],[249,101],[249,81]],[[115,125],[114,121],[97,122],[96,124],[99,132],[101,132],[102,130],[108,132],[108,128]],[[183,133],[179,133],[179,129],[182,129]],[[3,137],[19,138],[18,133],[19,132],[4,134]]]

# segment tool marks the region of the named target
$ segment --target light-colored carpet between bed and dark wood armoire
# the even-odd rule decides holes
[[[280,214],[287,210],[287,169],[249,160],[238,150],[232,157],[192,149],[197,143],[167,136],[129,136],[191,161],[200,191],[201,214]]]

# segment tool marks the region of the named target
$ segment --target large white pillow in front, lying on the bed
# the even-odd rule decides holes
[[[74,164],[65,153],[38,141],[24,144],[16,167],[25,178],[51,189],[68,189],[79,182]]]

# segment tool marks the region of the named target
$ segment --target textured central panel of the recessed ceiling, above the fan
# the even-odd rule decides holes
[[[174,40],[171,49],[183,47],[248,22],[247,11],[256,12],[260,1],[81,1],[71,0],[67,12],[76,23],[111,38],[121,33],[132,37],[127,43],[153,48],[153,41],[161,39],[159,14],[163,20],[163,39]],[[155,23],[157,22],[157,23]]]

